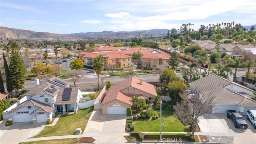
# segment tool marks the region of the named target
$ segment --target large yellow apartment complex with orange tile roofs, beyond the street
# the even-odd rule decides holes
[[[169,68],[167,61],[170,59],[170,55],[165,53],[153,53],[153,49],[125,48],[125,50],[120,50],[120,47],[104,48],[108,48],[108,51],[97,50],[98,52],[80,52],[79,57],[86,66],[93,66],[93,59],[101,55],[104,59],[105,69],[110,67],[126,68],[132,65],[132,54],[141,52],[145,68]]]

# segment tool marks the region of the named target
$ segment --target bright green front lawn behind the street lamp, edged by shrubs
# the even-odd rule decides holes
[[[160,111],[155,111],[160,116]],[[136,132],[159,132],[160,118],[157,120],[141,120],[134,124]],[[174,114],[173,108],[162,110],[162,132],[187,132],[188,129],[184,126],[177,116]]]

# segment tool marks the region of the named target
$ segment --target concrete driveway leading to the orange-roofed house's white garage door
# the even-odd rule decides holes
[[[102,115],[102,110],[94,110],[84,130],[85,136],[92,136],[94,143],[124,143],[126,115]]]

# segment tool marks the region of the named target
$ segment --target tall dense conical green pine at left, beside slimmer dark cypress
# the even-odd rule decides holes
[[[26,81],[26,67],[16,42],[11,44],[9,70],[11,74],[10,82],[17,96],[18,89],[24,88],[24,83]]]

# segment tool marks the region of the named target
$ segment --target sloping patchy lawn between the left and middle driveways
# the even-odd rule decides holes
[[[55,126],[46,126],[40,134],[32,138],[72,135],[76,128],[81,128],[82,132],[84,132],[92,111],[93,106],[86,109],[80,109],[77,114],[61,115]]]

